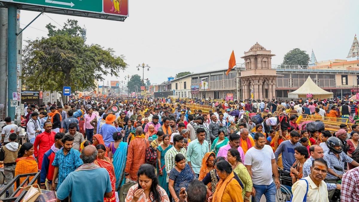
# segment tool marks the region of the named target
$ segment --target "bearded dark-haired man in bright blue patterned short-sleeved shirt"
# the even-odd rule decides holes
[[[52,182],[55,182],[57,174],[59,174],[59,182],[57,187],[55,187],[55,183],[52,183],[52,190],[59,189],[66,176],[83,164],[80,159],[80,152],[72,148],[74,137],[71,135],[65,135],[61,142],[63,148],[56,152],[55,159],[52,162],[52,165],[55,166]]]

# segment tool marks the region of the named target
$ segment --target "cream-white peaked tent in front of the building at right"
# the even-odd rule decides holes
[[[321,89],[313,82],[309,76],[307,81],[303,83],[296,91],[288,93],[288,97],[307,97],[307,94],[312,94],[313,99],[333,98],[333,93]]]

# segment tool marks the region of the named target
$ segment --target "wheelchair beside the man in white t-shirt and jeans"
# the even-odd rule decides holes
[[[290,171],[283,170],[278,167],[280,187],[277,189],[275,197],[278,202],[290,201],[292,197],[292,178],[290,177]]]

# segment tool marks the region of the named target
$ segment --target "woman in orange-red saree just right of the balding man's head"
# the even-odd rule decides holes
[[[97,144],[97,159],[94,163],[100,167],[103,167],[107,170],[110,175],[111,187],[112,187],[112,196],[111,198],[103,198],[104,202],[116,202],[116,175],[115,168],[113,168],[113,164],[109,157],[106,157],[106,147],[103,144]]]

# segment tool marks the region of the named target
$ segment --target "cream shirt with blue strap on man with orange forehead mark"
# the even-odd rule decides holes
[[[319,187],[314,184],[310,176],[302,178],[308,181],[307,202],[329,202],[327,184],[322,180]],[[292,201],[303,201],[307,192],[307,183],[305,180],[298,180],[292,186]]]

